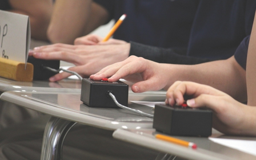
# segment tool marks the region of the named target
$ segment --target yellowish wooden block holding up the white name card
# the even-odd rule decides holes
[[[0,76],[15,81],[33,81],[34,66],[27,63],[0,58]]]

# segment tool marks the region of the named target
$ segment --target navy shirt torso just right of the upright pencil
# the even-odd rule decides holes
[[[163,48],[187,48],[199,0],[94,0],[110,19],[127,17],[114,38]]]

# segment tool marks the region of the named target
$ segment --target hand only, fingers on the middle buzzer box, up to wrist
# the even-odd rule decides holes
[[[157,91],[165,88],[171,75],[170,64],[160,64],[154,61],[130,56],[124,61],[103,68],[90,79],[101,80],[109,77],[108,81],[117,81],[121,78],[135,84],[133,92]]]

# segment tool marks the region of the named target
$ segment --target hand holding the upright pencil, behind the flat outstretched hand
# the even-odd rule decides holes
[[[74,44],[96,45],[96,44],[126,44],[127,42],[118,39],[109,39],[106,42],[102,42],[104,38],[98,35],[86,35],[75,39]]]

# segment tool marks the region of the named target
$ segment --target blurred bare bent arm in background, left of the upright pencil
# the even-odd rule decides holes
[[[47,35],[51,43],[73,44],[75,38],[89,34],[108,18],[107,10],[91,0],[56,0]]]

